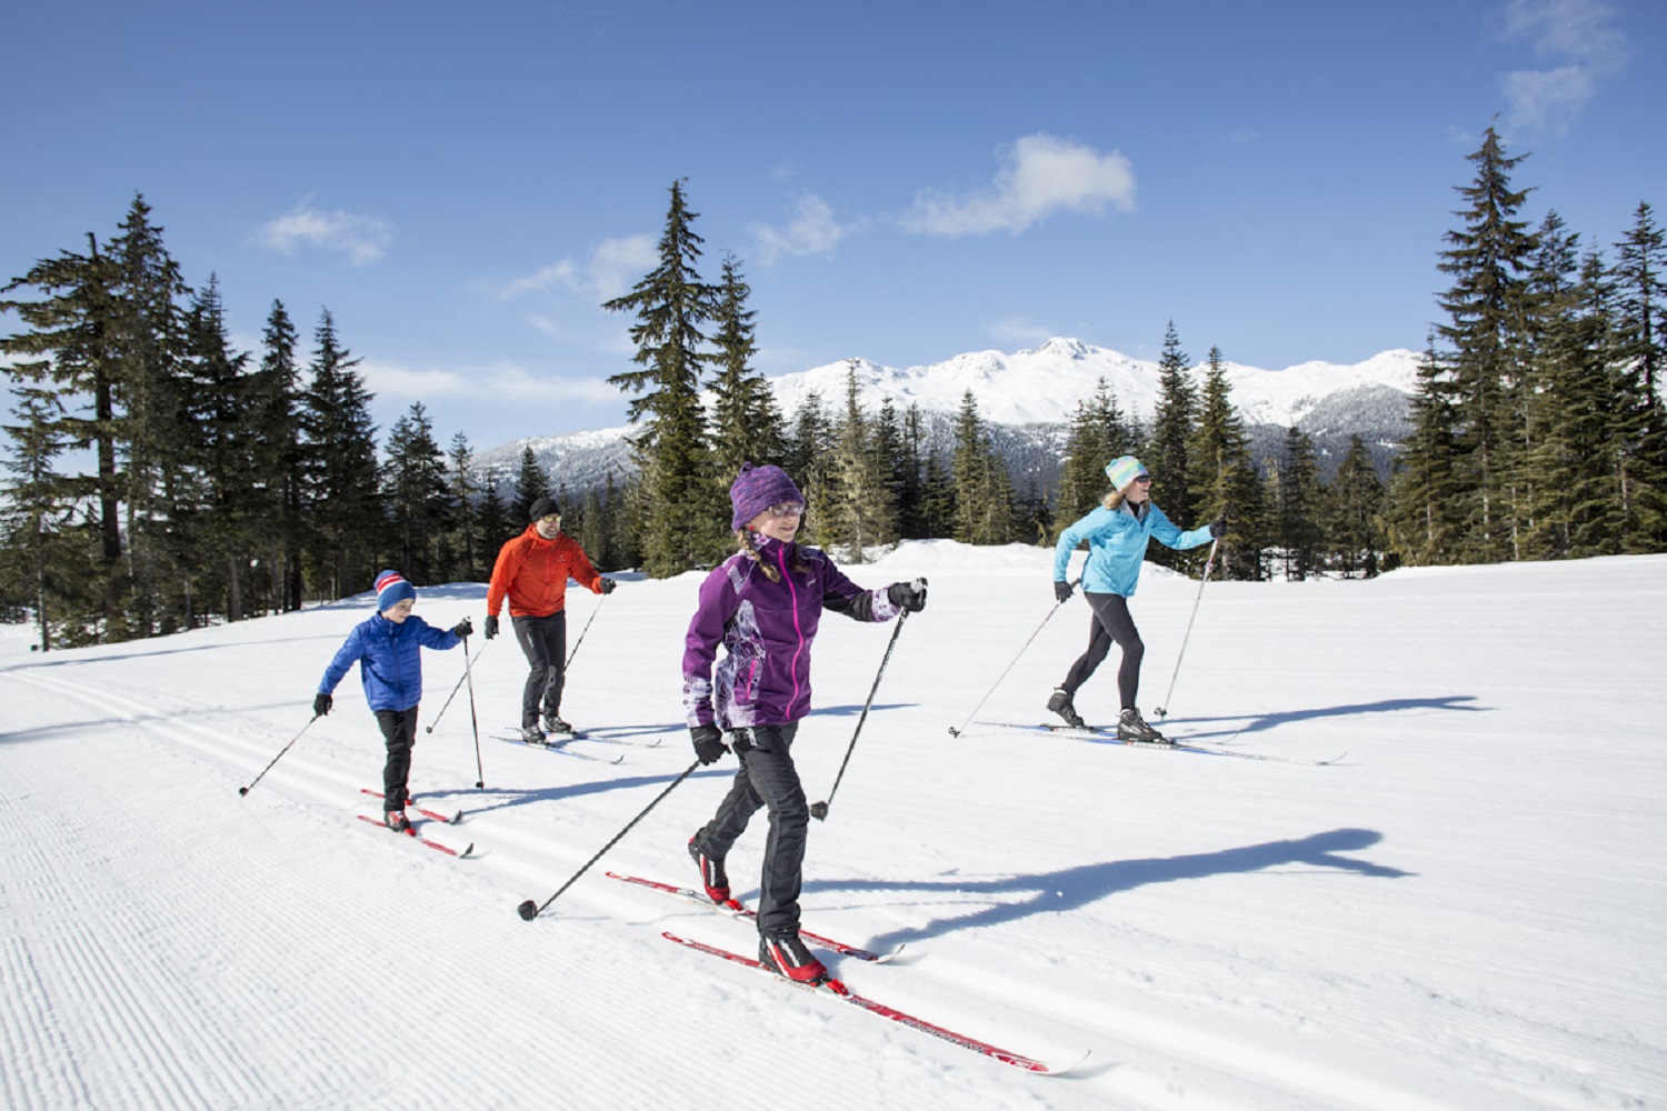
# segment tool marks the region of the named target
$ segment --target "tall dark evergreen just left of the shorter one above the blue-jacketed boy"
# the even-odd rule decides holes
[[[308,508],[313,520],[312,565],[325,598],[343,598],[370,585],[370,561],[383,525],[377,491],[377,426],[372,393],[335,335],[330,310],[313,331],[312,381],[303,395]]]

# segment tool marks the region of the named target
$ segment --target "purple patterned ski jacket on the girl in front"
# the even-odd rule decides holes
[[[885,586],[864,590],[818,548],[755,536],[763,568],[737,551],[712,568],[683,640],[688,726],[743,730],[788,725],[810,713],[810,641],[823,610],[857,621],[890,621],[900,610]],[[795,571],[800,566],[803,570]],[[718,645],[725,656],[713,661]]]

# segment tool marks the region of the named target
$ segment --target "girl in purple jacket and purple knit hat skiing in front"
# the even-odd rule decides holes
[[[822,983],[827,968],[798,938],[810,806],[790,753],[798,720],[810,713],[810,641],[823,610],[857,621],[924,610],[925,580],[862,590],[825,553],[793,543],[805,496],[780,466],[745,463],[730,505],[738,551],[700,585],[683,646],[683,708],[700,763],[733,748],[740,771],[712,821],[688,839],[688,854],[712,901],[728,901],[723,858],[767,806],[758,959],[790,979]]]

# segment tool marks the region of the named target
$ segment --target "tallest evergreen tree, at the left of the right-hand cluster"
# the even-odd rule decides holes
[[[1472,561],[1512,555],[1529,343],[1527,270],[1535,248],[1527,223],[1515,218],[1527,190],[1510,187],[1510,172],[1524,157],[1505,157],[1499,135],[1487,128],[1482,147],[1469,155],[1475,180],[1459,190],[1469,202],[1457,213],[1464,227],[1444,237],[1450,247],[1437,265],[1454,281],[1440,296],[1449,320],[1437,330],[1452,345],[1447,363],[1464,465],[1459,495],[1467,510],[1462,556]]]

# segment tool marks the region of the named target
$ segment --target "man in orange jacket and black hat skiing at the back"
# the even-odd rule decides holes
[[[562,531],[562,510],[550,498],[532,503],[532,525],[498,550],[487,588],[487,640],[498,635],[498,610],[510,603],[515,641],[532,671],[522,691],[522,740],[543,743],[538,728],[572,733],[562,721],[562,680],[567,670],[567,580],[598,595],[612,593],[613,580],[597,575],[578,541]]]

